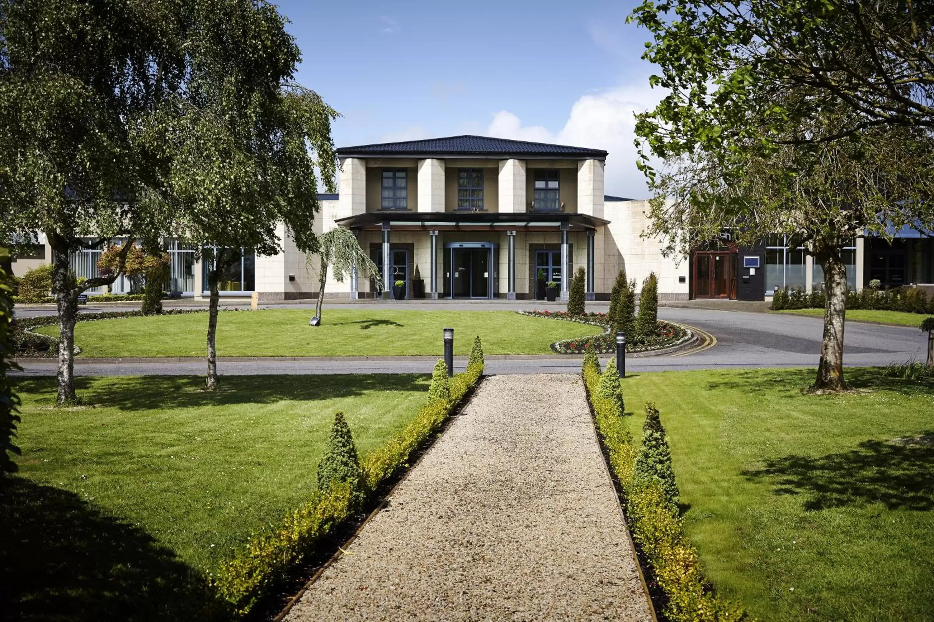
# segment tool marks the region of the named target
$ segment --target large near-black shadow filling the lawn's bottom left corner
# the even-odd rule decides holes
[[[73,492],[7,477],[0,496],[3,619],[230,618],[201,574]]]

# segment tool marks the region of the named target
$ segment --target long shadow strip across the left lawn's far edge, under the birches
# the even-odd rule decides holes
[[[78,397],[89,406],[122,410],[199,408],[322,400],[368,393],[428,391],[428,374],[322,374],[313,376],[222,376],[216,391],[205,391],[200,376],[126,376],[76,379]],[[19,394],[43,394],[37,405],[55,403],[55,379],[18,378]],[[387,399],[391,397],[387,396]],[[41,404],[39,404],[41,402]]]

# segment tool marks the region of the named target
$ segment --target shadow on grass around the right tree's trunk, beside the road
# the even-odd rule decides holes
[[[730,371],[707,384],[707,389],[728,389],[743,393],[786,392],[785,398],[799,398],[814,383],[816,369],[747,369]],[[882,367],[847,367],[843,379],[851,389],[891,391],[899,394],[934,394],[934,380],[887,378]]]

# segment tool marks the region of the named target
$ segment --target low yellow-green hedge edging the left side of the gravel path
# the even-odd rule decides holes
[[[281,525],[254,533],[233,559],[222,562],[215,573],[209,574],[218,596],[229,602],[237,615],[248,614],[267,590],[314,550],[321,538],[360,511],[358,496],[372,497],[382,482],[409,465],[412,453],[438,431],[463,396],[476,386],[483,370],[481,359],[470,363],[463,373],[446,379],[449,400],[429,401],[402,432],[368,454],[361,461],[362,491],[355,491],[347,482],[332,485],[326,493],[315,492]]]

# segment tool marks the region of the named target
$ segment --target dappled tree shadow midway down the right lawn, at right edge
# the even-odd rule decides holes
[[[858,449],[819,458],[785,456],[743,475],[772,480],[775,494],[807,495],[808,510],[875,503],[888,509],[934,509],[934,447],[929,445],[868,440]]]

